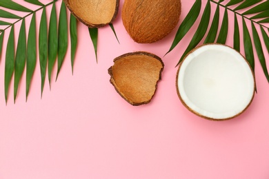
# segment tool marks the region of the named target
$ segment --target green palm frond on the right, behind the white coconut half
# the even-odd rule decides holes
[[[201,11],[201,6],[197,6],[197,3],[200,3],[199,0],[195,1],[193,4],[190,12],[192,9],[196,8],[196,12]],[[201,39],[206,35],[206,32],[203,33],[203,30],[207,30],[209,24],[208,19],[204,18],[204,15],[206,13],[210,13],[210,6],[211,4],[216,4],[217,8],[215,9],[215,15],[213,17],[210,30],[208,31],[208,34],[203,41],[203,43],[213,43],[215,42],[216,35],[218,32],[218,26],[219,23],[221,23],[221,28],[219,30],[219,36],[217,38],[217,43],[223,43],[226,44],[226,38],[229,33],[228,32],[228,21],[230,21],[230,17],[228,17],[228,12],[234,13],[234,31],[233,31],[233,48],[235,50],[240,52],[240,39],[243,39],[243,49],[244,49],[244,55],[246,56],[247,61],[250,63],[250,66],[252,67],[253,72],[255,71],[255,55],[254,52],[257,52],[259,62],[261,64],[261,67],[263,68],[263,72],[269,82],[268,78],[268,71],[266,66],[266,58],[268,58],[268,55],[264,55],[266,52],[262,48],[262,41],[266,45],[266,49],[269,52],[269,37],[266,32],[266,30],[269,32],[268,26],[265,25],[265,23],[269,23],[269,1],[262,1],[262,0],[252,0],[252,1],[244,1],[244,0],[230,0],[226,5],[223,4],[223,1],[217,1],[217,0],[208,0],[208,3],[206,5],[206,8],[203,10],[203,15],[200,21],[200,24],[193,35],[193,38],[190,40],[190,43],[188,45],[188,48],[185,52],[183,52],[183,55],[179,59],[179,63],[182,61],[184,56],[192,50],[192,48],[195,48]],[[235,8],[230,8],[230,6],[235,6]],[[219,8],[224,9],[224,14],[222,19],[219,19]],[[247,9],[247,10],[245,10]],[[243,12],[239,12],[238,10],[245,10]],[[198,19],[197,16],[190,16],[190,12],[188,12],[185,19],[183,19],[183,22],[191,21],[192,23],[195,23]],[[194,12],[192,12],[194,13]],[[252,17],[248,17],[250,14],[252,14]],[[237,16],[242,18],[242,23],[239,24],[237,20]],[[209,17],[210,18],[210,17]],[[258,19],[258,20],[255,20]],[[250,22],[252,24],[252,33],[250,34],[250,30],[248,26],[246,25],[246,21]],[[171,45],[171,50],[175,48],[175,46],[181,41],[183,36],[181,35],[181,38],[179,38],[179,34],[186,34],[190,28],[183,28],[183,22],[181,25],[179,25],[179,30],[175,36],[175,39]],[[201,25],[203,24],[203,30],[201,30]],[[259,34],[258,30],[256,29],[255,25],[259,25],[261,35]],[[239,34],[239,27],[243,28],[243,34],[240,36]],[[199,34],[199,35],[198,35]],[[253,39],[253,41],[252,41]],[[170,51],[168,51],[170,52]],[[243,54],[243,52],[241,52]],[[266,52],[266,54],[268,54]],[[179,65],[177,63],[177,65]]]

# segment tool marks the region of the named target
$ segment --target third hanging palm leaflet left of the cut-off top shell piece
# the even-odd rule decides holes
[[[58,52],[57,34],[57,13],[55,3],[53,3],[50,14],[50,25],[48,30],[48,81],[51,82],[51,75]]]

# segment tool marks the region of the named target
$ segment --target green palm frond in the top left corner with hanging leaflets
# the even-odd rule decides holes
[[[43,94],[43,88],[46,80],[46,71],[48,70],[49,84],[52,78],[52,70],[54,63],[58,58],[58,70],[61,70],[63,59],[66,56],[68,48],[68,23],[67,23],[67,11],[66,6],[61,2],[61,10],[59,12],[59,23],[57,23],[57,10],[55,3],[57,0],[52,0],[47,4],[41,3],[39,0],[24,0],[33,5],[39,6],[36,10],[30,10],[26,6],[21,6],[19,3],[15,3],[12,0],[1,0],[0,8],[6,8],[5,10],[0,9],[0,17],[7,20],[0,21],[0,25],[3,29],[0,30],[0,56],[3,44],[3,36],[6,34],[6,30],[10,29],[8,36],[8,43],[6,47],[6,63],[5,63],[5,99],[8,102],[8,91],[10,89],[10,82],[14,74],[14,101],[17,98],[17,92],[19,90],[19,83],[21,76],[26,68],[26,101],[30,92],[30,86],[32,76],[37,64],[37,58],[40,64],[40,75],[41,75],[41,96]],[[50,22],[47,25],[47,13],[46,8],[52,5],[50,12]],[[26,12],[23,17],[18,15],[16,12],[9,12],[9,10],[15,10],[17,12]],[[39,23],[39,32],[36,30],[36,12],[42,11],[41,19]],[[26,26],[25,19],[32,16],[32,20],[29,26]],[[8,19],[16,19],[15,22],[11,23]],[[14,28],[15,24],[21,21],[19,39],[15,41]],[[72,22],[72,23],[71,23]],[[75,22],[75,23],[74,23]],[[57,27],[59,26],[59,30]],[[16,25],[17,27],[17,25]],[[26,30],[28,29],[28,39],[26,41]],[[47,32],[48,31],[48,32]],[[38,44],[37,44],[37,33],[38,33]],[[71,34],[72,33],[72,34]],[[70,36],[71,36],[71,53],[72,53],[72,67],[74,62],[74,54],[77,50],[77,19],[70,16]],[[14,49],[14,44],[18,43],[17,49]],[[39,55],[37,57],[37,45],[39,48]],[[57,77],[56,77],[57,78]]]

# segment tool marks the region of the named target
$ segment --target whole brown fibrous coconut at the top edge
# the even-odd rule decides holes
[[[125,0],[121,17],[134,41],[153,43],[176,27],[180,14],[180,0]]]

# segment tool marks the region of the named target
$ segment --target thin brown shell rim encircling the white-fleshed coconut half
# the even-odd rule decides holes
[[[176,85],[176,88],[177,88],[177,96],[179,96],[179,100],[181,101],[181,103],[183,104],[184,107],[186,107],[190,112],[192,112],[193,114],[195,114],[195,115],[197,115],[197,116],[199,116],[201,118],[205,118],[207,120],[212,120],[212,121],[225,121],[225,120],[230,120],[232,118],[236,118],[237,116],[240,116],[243,112],[245,112],[246,109],[248,109],[248,107],[250,106],[250,104],[253,101],[253,98],[255,96],[255,89],[256,89],[255,74],[254,74],[254,72],[252,70],[252,67],[251,67],[250,63],[246,60],[246,58],[239,51],[237,51],[237,50],[235,50],[235,52],[238,52],[242,56],[242,58],[244,59],[244,61],[248,64],[248,67],[250,67],[250,71],[252,72],[252,77],[253,77],[253,81],[254,81],[254,89],[253,89],[253,93],[252,93],[252,98],[250,99],[250,102],[248,103],[248,105],[241,112],[239,112],[238,114],[235,114],[234,116],[228,117],[228,118],[210,118],[208,116],[203,116],[202,114],[199,114],[199,112],[196,112],[195,110],[193,110],[192,108],[190,108],[186,104],[186,102],[183,101],[183,99],[181,98],[181,95],[179,93],[179,86],[178,86],[178,77],[179,77],[179,71],[180,71],[181,65],[182,65],[183,61],[185,61],[186,57],[189,54],[191,54],[195,50],[197,50],[197,49],[199,49],[199,48],[201,48],[201,47],[203,47],[205,45],[223,45],[223,46],[228,47],[228,48],[230,48],[232,50],[235,50],[234,48],[231,48],[230,46],[225,45],[225,44],[221,44],[221,43],[206,43],[206,44],[203,44],[203,45],[199,45],[198,47],[196,47],[196,48],[192,49],[190,52],[188,52],[188,54],[186,54],[186,56],[184,56],[184,58],[181,61],[181,63],[179,63],[179,67],[178,67],[178,70],[177,70],[177,76],[176,76],[176,81],[175,81],[176,82],[175,85]]]

